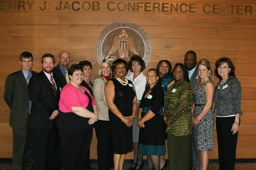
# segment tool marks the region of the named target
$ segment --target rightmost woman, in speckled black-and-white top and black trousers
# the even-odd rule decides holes
[[[215,116],[218,139],[219,170],[234,170],[236,143],[240,124],[241,84],[229,58],[215,63],[215,75],[220,79],[215,87]]]

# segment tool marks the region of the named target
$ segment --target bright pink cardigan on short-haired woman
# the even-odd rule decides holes
[[[90,91],[83,87],[88,94],[90,94]],[[90,94],[92,97],[92,94]],[[79,89],[75,88],[72,84],[67,83],[64,88],[62,88],[60,93],[60,99],[59,99],[59,110],[63,113],[72,112],[71,107],[87,107],[89,103],[88,96],[81,92]],[[92,106],[96,105],[96,102],[94,101],[92,97]]]

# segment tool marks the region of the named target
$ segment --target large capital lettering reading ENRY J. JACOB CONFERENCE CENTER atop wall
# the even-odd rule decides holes
[[[154,1],[90,1],[90,0],[1,0],[0,12],[8,11],[50,11],[50,12],[133,12],[133,13],[180,13],[253,15],[254,6],[249,4],[186,3]],[[253,8],[254,7],[254,8]]]

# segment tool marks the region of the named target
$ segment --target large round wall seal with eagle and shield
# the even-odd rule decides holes
[[[138,25],[118,22],[101,32],[96,43],[98,63],[105,58],[111,62],[117,58],[128,62],[132,55],[140,56],[146,65],[151,57],[149,37]]]

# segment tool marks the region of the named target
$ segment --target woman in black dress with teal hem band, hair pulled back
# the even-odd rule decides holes
[[[138,152],[147,155],[149,170],[160,170],[160,155],[165,154],[164,120],[161,116],[164,91],[157,69],[150,69],[146,80],[146,88],[138,109]]]

